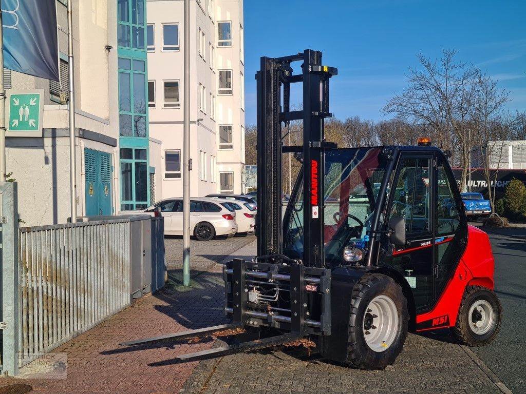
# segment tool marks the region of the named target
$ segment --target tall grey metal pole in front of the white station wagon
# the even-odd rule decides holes
[[[183,127],[183,285],[190,284],[190,0],[185,0]]]

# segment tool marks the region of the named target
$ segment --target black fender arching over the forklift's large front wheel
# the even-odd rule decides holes
[[[331,335],[318,338],[322,357],[339,362],[347,360],[352,289],[363,275],[372,272],[390,276],[402,287],[402,292],[407,298],[409,327],[410,330],[414,330],[416,313],[413,294],[406,279],[398,271],[390,267],[339,266],[331,273]]]

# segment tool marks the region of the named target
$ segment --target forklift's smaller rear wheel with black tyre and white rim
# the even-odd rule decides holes
[[[464,345],[484,346],[497,337],[502,305],[497,295],[481,286],[468,286],[460,303],[453,335]]]

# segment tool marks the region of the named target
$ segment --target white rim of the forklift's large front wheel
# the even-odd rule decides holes
[[[395,341],[399,328],[398,309],[386,295],[371,300],[363,316],[363,337],[372,350],[387,350]]]

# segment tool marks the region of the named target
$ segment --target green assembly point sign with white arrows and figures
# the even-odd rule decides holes
[[[6,126],[8,137],[42,137],[44,89],[7,90]]]

